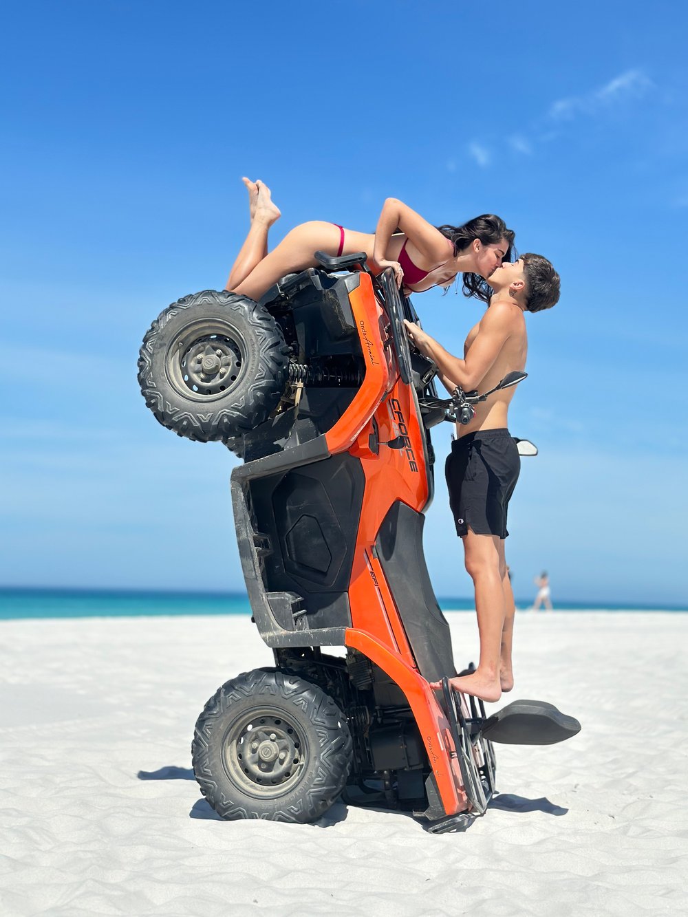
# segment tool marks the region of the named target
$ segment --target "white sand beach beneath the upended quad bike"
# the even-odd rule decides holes
[[[450,613],[460,665],[472,613]],[[249,618],[0,624],[0,913],[628,915],[688,912],[688,614],[519,613],[518,697],[583,724],[496,746],[463,834],[337,803],[315,825],[223,822],[196,716],[272,662]]]

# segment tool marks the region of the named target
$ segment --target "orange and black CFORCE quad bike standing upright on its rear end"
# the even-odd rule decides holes
[[[494,794],[494,743],[549,745],[580,724],[539,701],[486,716],[449,690],[449,624],[423,554],[430,430],[465,422],[484,395],[438,399],[391,271],[373,277],[363,254],[316,259],[260,303],[184,297],[140,351],[161,424],[243,458],[231,474],[239,555],[274,655],[205,704],[194,774],[227,819],[313,822],[341,796],[463,829]]]

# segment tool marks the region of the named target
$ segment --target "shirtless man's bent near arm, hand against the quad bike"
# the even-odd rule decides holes
[[[457,385],[464,392],[472,392],[478,388],[494,365],[499,351],[512,333],[515,318],[513,308],[506,303],[490,306],[481,319],[478,334],[465,359],[454,357],[434,337],[427,335],[413,322],[405,321],[405,326],[416,348],[437,364],[442,384],[450,392]],[[454,383],[453,387],[451,382]]]

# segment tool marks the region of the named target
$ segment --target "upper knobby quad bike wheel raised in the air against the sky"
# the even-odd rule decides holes
[[[264,306],[205,290],[173,303],[139,352],[146,404],[178,436],[208,442],[254,429],[276,407],[289,350]]]

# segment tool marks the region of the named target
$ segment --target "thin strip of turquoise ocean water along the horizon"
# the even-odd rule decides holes
[[[440,598],[443,611],[472,611],[472,599]],[[530,602],[516,602],[526,609]],[[557,610],[665,611],[686,608],[610,604],[609,602],[556,602]],[[19,618],[140,617],[163,614],[250,614],[246,593],[188,593],[97,591],[58,589],[0,589],[0,621]]]

